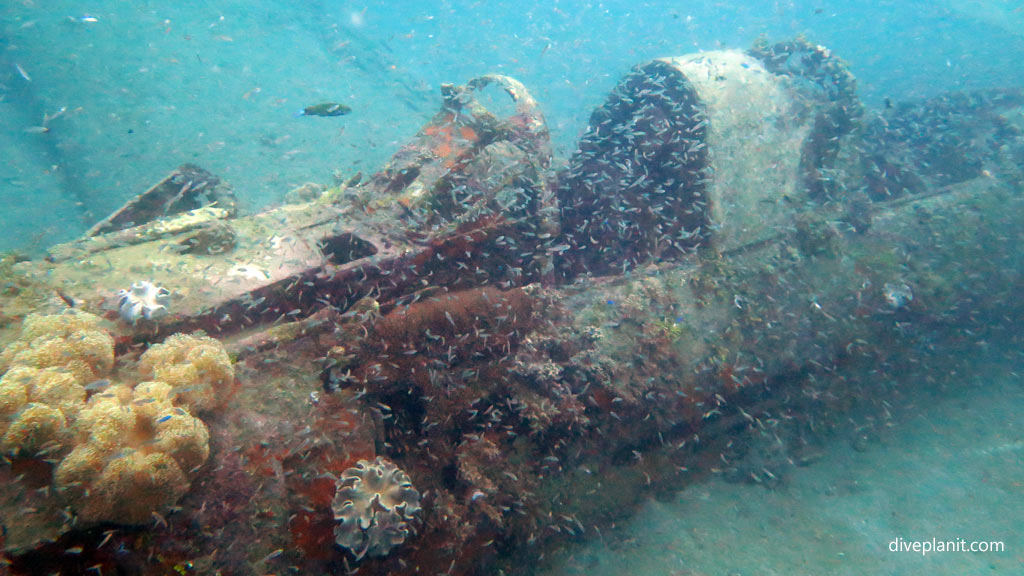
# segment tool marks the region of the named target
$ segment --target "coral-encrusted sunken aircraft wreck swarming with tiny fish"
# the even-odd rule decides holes
[[[563,163],[514,79],[442,98],[367,178],[242,215],[185,165],[5,259],[2,570],[528,573],[781,482],[1021,319],[1019,89],[872,112],[802,40],[655,59]]]

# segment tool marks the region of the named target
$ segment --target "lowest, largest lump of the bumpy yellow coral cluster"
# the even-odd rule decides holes
[[[141,524],[188,489],[210,455],[202,420],[171,401],[172,386],[114,385],[89,399],[80,444],[57,466],[55,486],[87,522]]]

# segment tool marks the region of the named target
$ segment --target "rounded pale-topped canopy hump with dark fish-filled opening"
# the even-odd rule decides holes
[[[820,201],[836,154],[822,142],[848,133],[859,108],[852,76],[828,89],[830,56],[812,48],[797,58],[807,65],[782,66],[782,48],[720,50],[628,74],[559,178],[561,276],[761,242],[792,227],[803,202]]]

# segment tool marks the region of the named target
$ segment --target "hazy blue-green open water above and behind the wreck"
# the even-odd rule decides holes
[[[651,57],[804,35],[878,106],[1013,84],[1022,30],[1020,4],[994,0],[7,2],[0,249],[74,238],[185,161],[252,207],[373,172],[433,114],[440,83],[484,73],[532,90],[564,157]],[[293,117],[325,99],[353,113]]]

